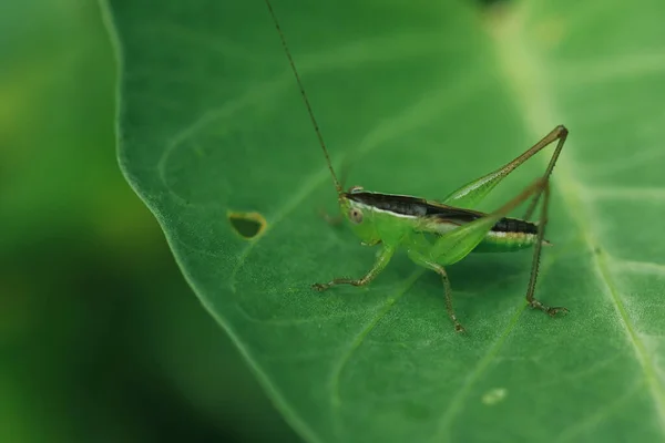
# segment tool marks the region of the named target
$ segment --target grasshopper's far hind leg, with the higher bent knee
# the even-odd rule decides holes
[[[549,146],[553,142],[559,141],[556,144],[556,148],[550,158],[550,164],[548,165],[548,169],[543,175],[544,178],[549,178],[552,174],[552,169],[554,168],[554,164],[561,154],[561,150],[563,148],[563,144],[567,136],[567,130],[563,125],[559,125],[553,128],[548,135],[545,135],[541,141],[531,146],[524,153],[510,161],[505,165],[501,166],[499,169],[491,172],[480,178],[472,181],[471,183],[466,184],[464,186],[453,190],[450,193],[442,203],[447,205],[472,208],[478,205],[489,193],[497,186],[503,178],[505,178],[510,173],[516,169],[520,165],[531,158],[533,155],[539,153],[544,147]],[[541,193],[534,195],[533,200],[529,205],[528,215],[531,215],[535,204],[540,198]],[[529,218],[529,217],[524,217]]]

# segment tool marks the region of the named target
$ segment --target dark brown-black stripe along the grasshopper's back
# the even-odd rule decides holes
[[[460,225],[477,220],[485,215],[477,210],[433,204],[424,198],[409,197],[406,195],[356,192],[352,194],[347,193],[345,194],[345,197],[381,210],[417,217],[436,217],[441,220]],[[492,227],[492,230],[494,233],[538,234],[538,226],[533,223],[504,217]]]

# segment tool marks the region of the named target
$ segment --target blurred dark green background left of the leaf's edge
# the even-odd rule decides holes
[[[120,173],[96,1],[0,29],[0,442],[298,441]]]

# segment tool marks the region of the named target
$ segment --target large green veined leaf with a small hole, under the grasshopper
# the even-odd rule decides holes
[[[525,309],[529,253],[474,255],[449,268],[460,337],[403,256],[369,288],[309,288],[375,251],[317,214],[334,187],[263,2],[112,2],[122,168],[289,423],[311,442],[663,441],[664,3],[274,7],[347,185],[442,198],[571,131],[536,290],[571,313]]]

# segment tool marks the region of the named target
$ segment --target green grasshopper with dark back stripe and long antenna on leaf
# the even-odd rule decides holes
[[[556,126],[522,155],[494,172],[458,188],[440,203],[406,195],[374,193],[365,190],[360,186],[352,186],[348,192],[344,192],[332,168],[328,150],[275,11],[269,0],[265,1],[324,151],[337,190],[341,214],[350,223],[352,230],[360,237],[364,245],[381,245],[376,262],[365,276],[358,279],[335,278],[326,284],[314,284],[313,288],[325,291],[337,285],[366,286],[386,268],[398,249],[406,249],[412,261],[441,276],[448,316],[454,324],[454,330],[462,332],[464,328],[454,315],[450,281],[443,267],[458,262],[471,251],[514,251],[533,247],[531,278],[526,289],[528,305],[552,317],[557,312],[567,312],[564,307],[549,307],[533,297],[541,249],[543,245],[549,245],[549,241],[544,239],[544,234],[550,200],[550,175],[565,143],[567,130],[563,125]],[[541,178],[493,213],[485,214],[471,209],[518,166],[553,142],[557,142],[556,147]],[[544,197],[539,222],[528,222],[541,196]],[[523,218],[507,217],[512,209],[529,198],[531,198],[531,203]]]

